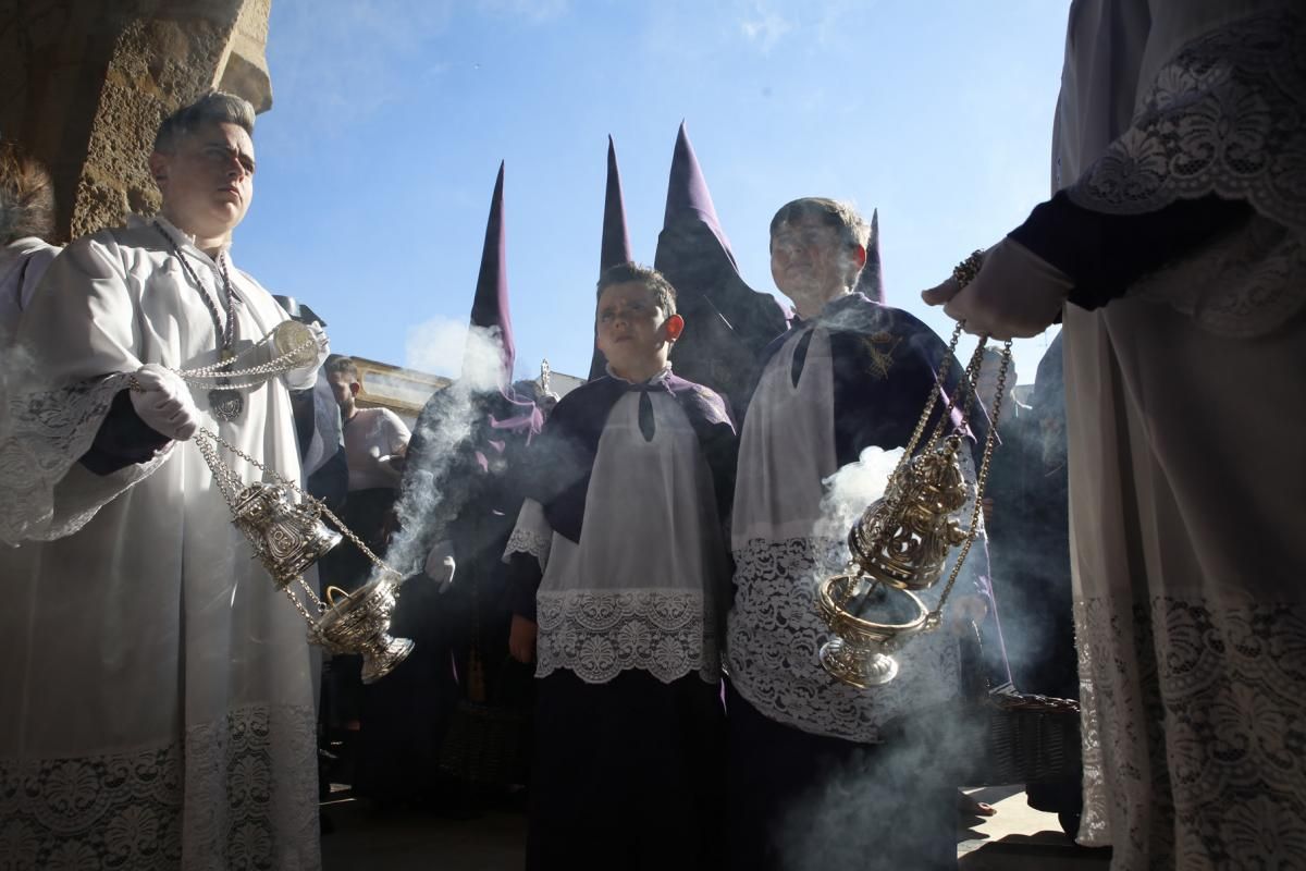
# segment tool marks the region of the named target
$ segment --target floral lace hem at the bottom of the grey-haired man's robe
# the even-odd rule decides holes
[[[251,706],[184,743],[0,759],[5,868],[319,867],[315,717]]]

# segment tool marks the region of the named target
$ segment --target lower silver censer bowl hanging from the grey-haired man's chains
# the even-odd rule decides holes
[[[375,683],[396,669],[413,652],[410,639],[390,635],[398,582],[383,573],[354,593],[326,589],[329,607],[308,631],[312,642],[332,653],[363,657],[363,683]],[[336,594],[341,593],[340,598]]]

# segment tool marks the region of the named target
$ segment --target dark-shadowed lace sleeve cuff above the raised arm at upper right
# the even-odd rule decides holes
[[[1161,67],[1132,127],[1070,189],[1100,212],[1155,212],[1218,193],[1306,229],[1306,27],[1276,10],[1185,46]]]

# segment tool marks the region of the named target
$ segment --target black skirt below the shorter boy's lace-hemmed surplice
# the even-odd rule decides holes
[[[623,671],[535,682],[530,871],[721,867],[721,688]]]

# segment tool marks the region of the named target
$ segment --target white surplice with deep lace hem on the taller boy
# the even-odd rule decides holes
[[[808,332],[812,338],[794,385],[794,351]],[[848,560],[842,539],[814,534],[821,520],[821,482],[836,471],[829,334],[808,326],[794,330],[767,363],[743,426],[726,659],[739,693],[772,720],[870,743],[879,740],[885,721],[956,697],[957,646],[942,629],[913,639],[896,654],[899,676],[872,689],[842,684],[820,665],[818,653],[829,632],[814,594]],[[961,589],[959,581],[959,594]],[[938,585],[919,595],[934,607],[940,592]]]

